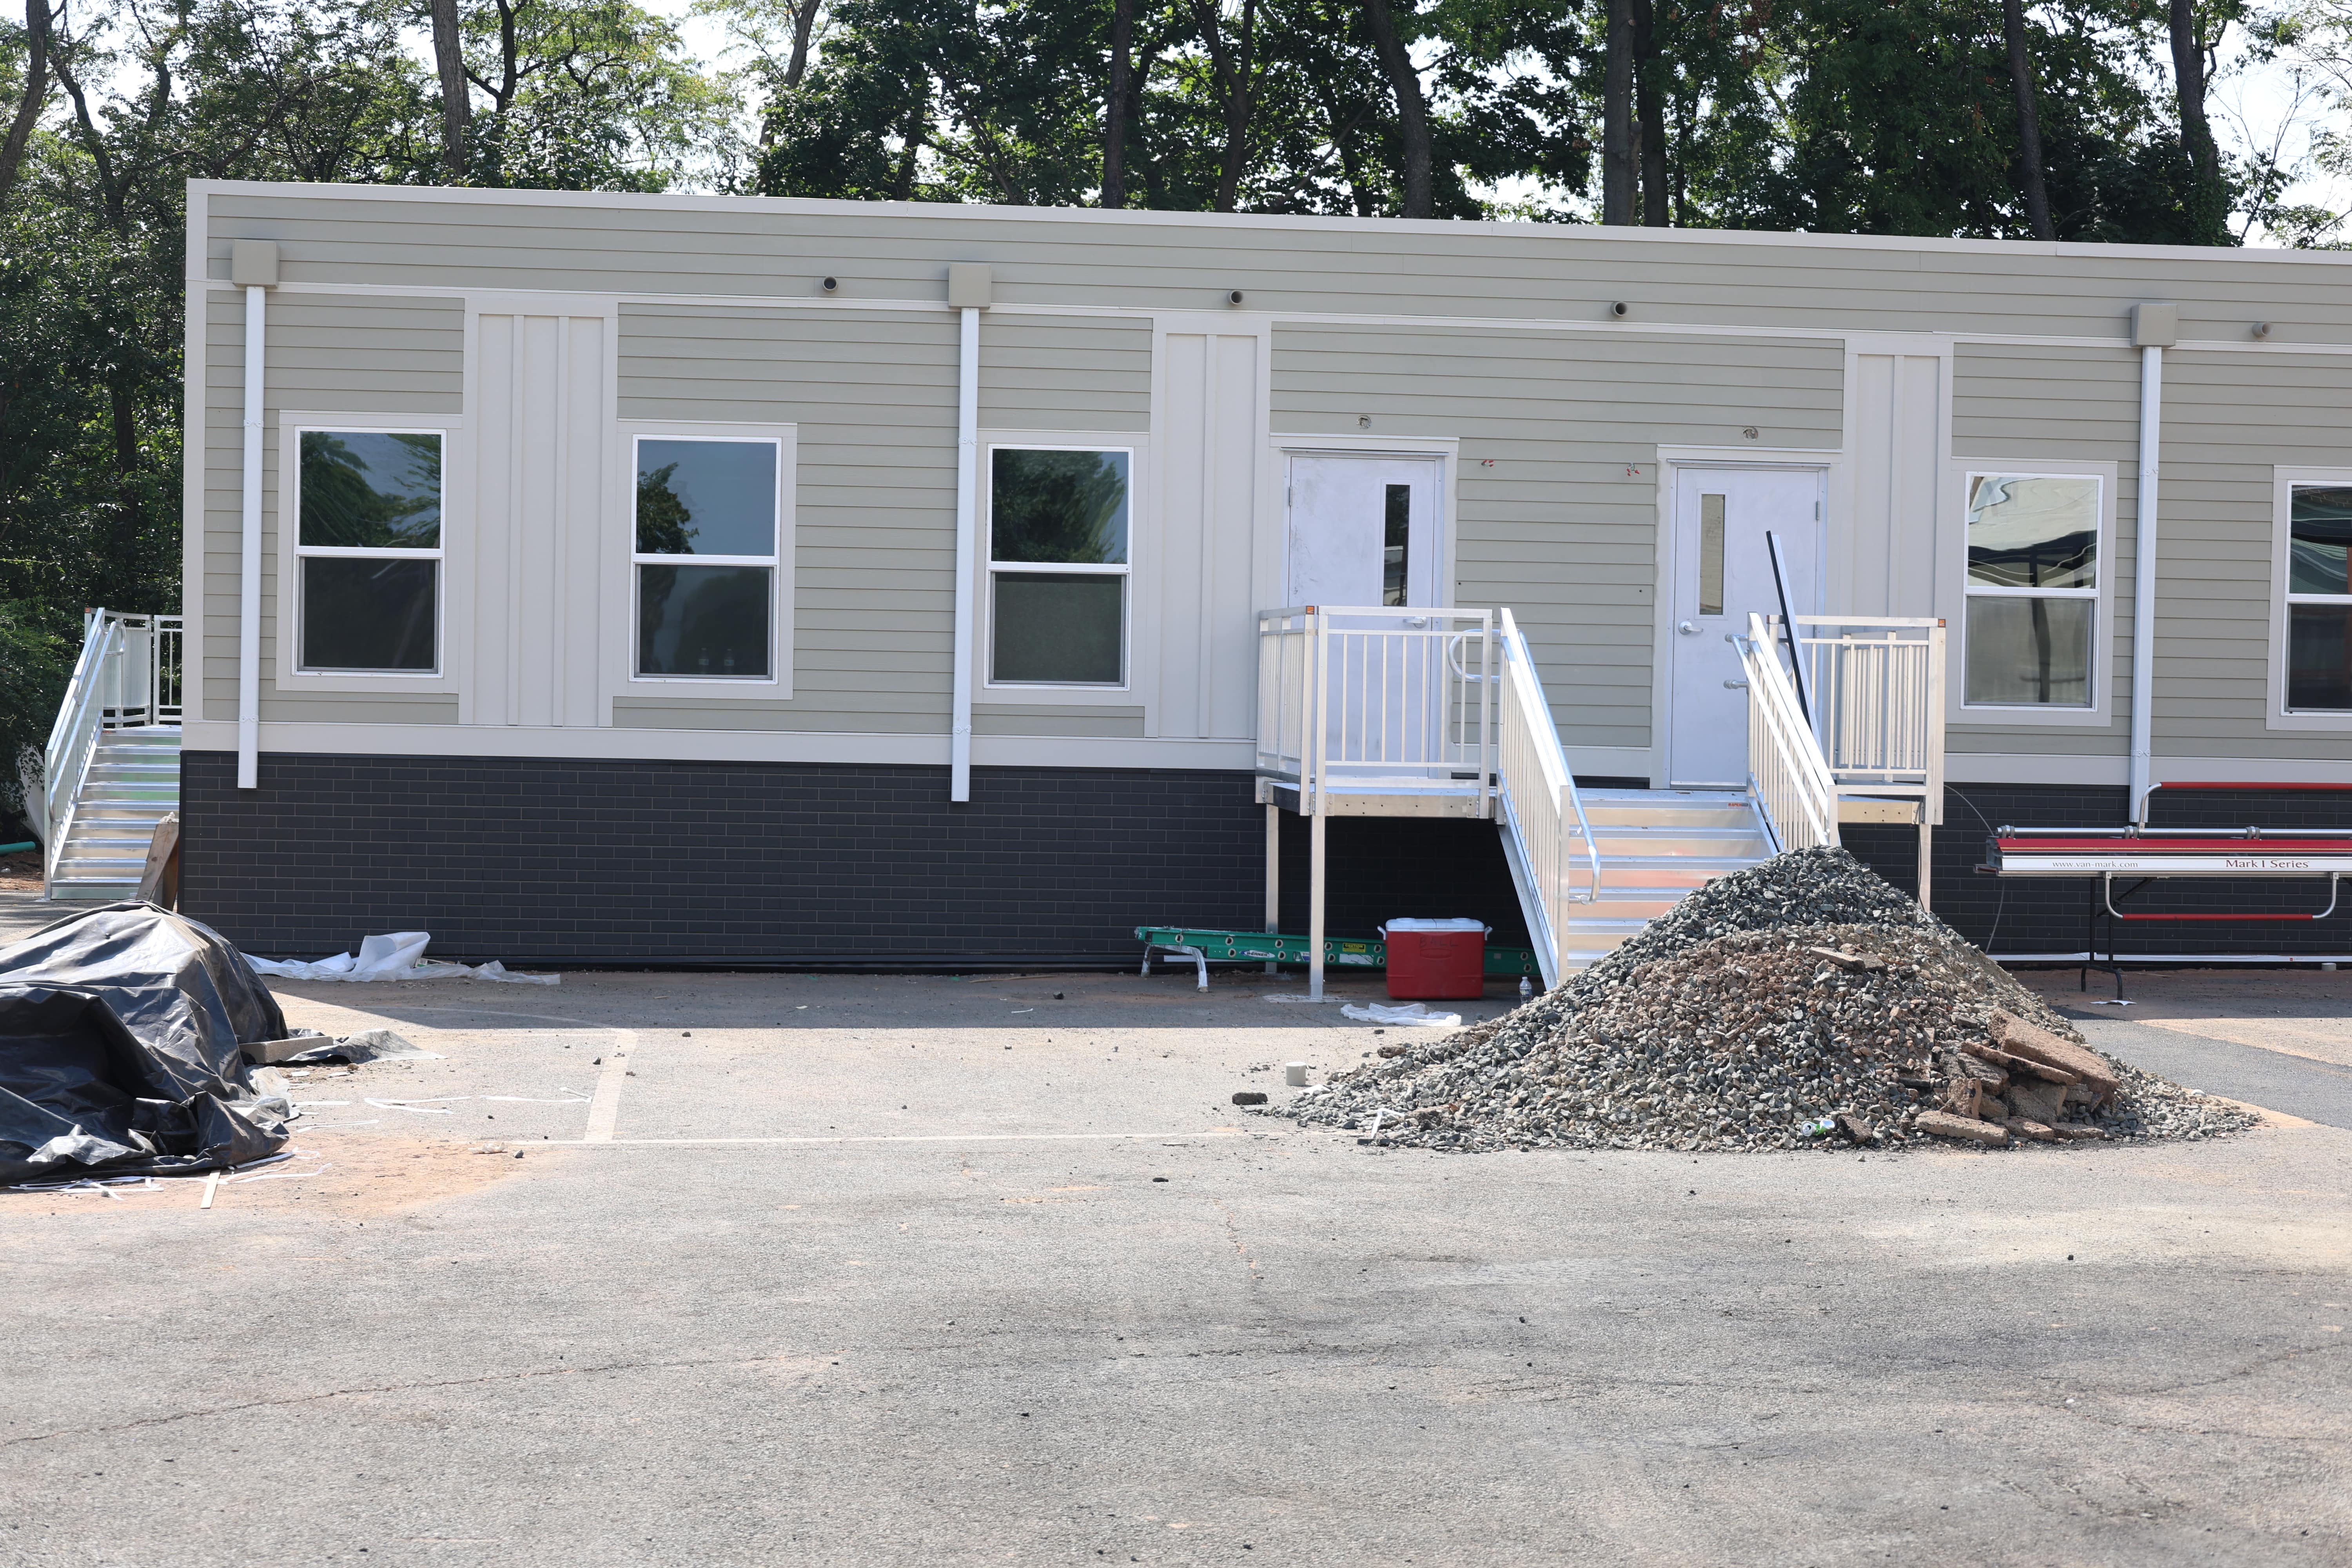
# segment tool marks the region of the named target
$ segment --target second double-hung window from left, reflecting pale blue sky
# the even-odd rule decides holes
[[[635,442],[635,675],[771,682],[781,444],[654,435]]]

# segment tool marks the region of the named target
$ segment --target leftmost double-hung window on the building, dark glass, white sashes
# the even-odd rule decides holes
[[[299,430],[301,670],[440,670],[440,430]]]

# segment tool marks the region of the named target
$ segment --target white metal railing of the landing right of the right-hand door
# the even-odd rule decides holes
[[[1778,618],[1766,625],[1778,635]],[[1943,823],[1943,621],[1795,616],[1795,625],[1813,733],[1839,790],[1919,797],[1929,825]]]

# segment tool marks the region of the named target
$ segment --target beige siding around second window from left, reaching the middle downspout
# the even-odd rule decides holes
[[[985,331],[985,327],[983,327]],[[649,729],[948,729],[955,317],[623,306],[621,418],[793,423],[793,698],[614,698]]]

